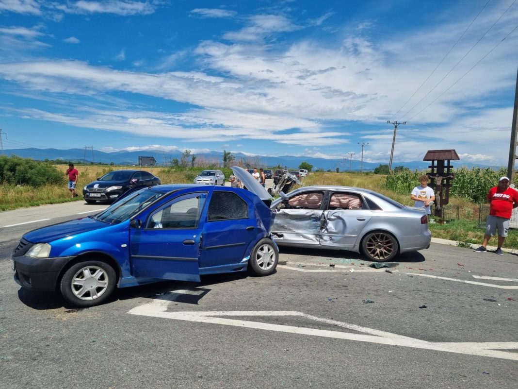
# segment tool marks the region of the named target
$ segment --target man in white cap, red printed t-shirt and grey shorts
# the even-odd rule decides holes
[[[489,193],[487,193],[487,201],[490,203],[490,211],[489,216],[487,216],[484,241],[482,246],[473,251],[476,253],[487,252],[487,243],[491,237],[496,235],[496,230],[498,229],[498,247],[495,253],[503,255],[502,245],[509,230],[509,219],[511,218],[513,208],[518,207],[518,191],[509,188],[509,178],[500,177],[498,186],[491,188]]]

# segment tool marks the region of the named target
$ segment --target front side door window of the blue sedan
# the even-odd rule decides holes
[[[206,199],[206,192],[181,196],[153,213],[146,228],[196,228]]]

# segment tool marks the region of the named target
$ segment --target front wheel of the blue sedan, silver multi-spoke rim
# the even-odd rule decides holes
[[[83,261],[71,266],[60,283],[61,295],[75,307],[92,307],[105,301],[117,284],[115,270],[106,262]]]

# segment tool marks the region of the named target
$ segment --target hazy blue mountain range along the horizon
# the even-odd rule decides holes
[[[23,149],[10,149],[5,150],[5,155],[16,155],[22,158],[32,158],[35,160],[45,160],[45,159],[62,159],[65,161],[73,161],[73,162],[103,162],[103,163],[111,163],[113,162],[116,165],[136,165],[138,164],[138,157],[153,157],[156,160],[157,165],[163,165],[164,163],[168,164],[172,159],[178,158],[180,159],[182,153],[181,151],[161,151],[161,150],[148,150],[148,151],[113,151],[113,152],[104,152],[99,150],[87,150],[85,152],[84,149],[80,148],[71,148],[66,150],[55,149],[55,148],[23,148]],[[298,165],[301,162],[308,162],[313,165],[313,170],[315,169],[323,169],[323,170],[335,170],[337,167],[340,171],[349,171],[349,164],[351,163],[352,171],[361,170],[362,162],[359,160],[353,159],[350,160],[333,160],[333,159],[325,159],[325,158],[311,158],[311,157],[296,157],[296,156],[279,156],[279,157],[265,157],[265,156],[256,156],[249,157],[240,152],[237,152],[234,155],[235,161],[238,162],[240,160],[248,161],[252,164],[260,164],[263,166],[274,167],[277,165],[286,166],[288,169],[297,169]],[[205,160],[207,162],[221,162],[223,153],[218,151],[211,151],[203,154],[195,154],[198,161]],[[472,168],[473,166],[478,166],[481,168],[499,168],[499,166],[488,166],[478,163],[465,163],[462,161],[452,161],[453,166],[460,167],[466,166],[467,168]],[[388,164],[386,162],[385,164]],[[371,172],[375,168],[380,165],[380,162],[370,163],[363,162],[363,170],[366,172]],[[405,166],[410,170],[427,170],[429,162],[425,161],[407,161],[407,162],[393,162],[392,166],[395,168],[396,166]]]

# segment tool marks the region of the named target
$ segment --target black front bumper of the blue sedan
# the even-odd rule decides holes
[[[31,290],[55,290],[61,270],[75,257],[33,258],[24,255],[11,257],[14,261],[13,278],[22,287]]]

